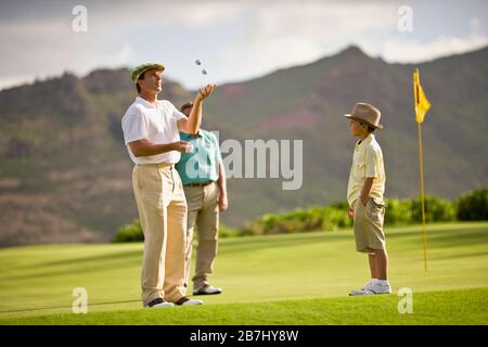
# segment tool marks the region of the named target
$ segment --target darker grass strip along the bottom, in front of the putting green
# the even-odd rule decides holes
[[[487,324],[487,288],[424,292],[413,295],[412,311],[400,313],[396,295],[222,304],[158,310],[115,310],[16,318],[2,324]]]

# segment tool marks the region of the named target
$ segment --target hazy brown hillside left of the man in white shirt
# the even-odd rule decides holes
[[[0,92],[0,244],[106,241],[136,217],[120,128],[134,95],[127,69]]]

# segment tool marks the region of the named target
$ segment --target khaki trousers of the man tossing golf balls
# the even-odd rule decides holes
[[[142,303],[185,295],[187,201],[180,176],[170,164],[136,165],[132,187],[144,232]]]

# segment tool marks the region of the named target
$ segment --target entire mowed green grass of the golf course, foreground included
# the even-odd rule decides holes
[[[141,308],[142,244],[0,249],[0,324],[487,324],[488,223],[388,229],[394,295],[347,297],[369,278],[350,230],[221,240],[203,307]],[[88,314],[72,313],[75,287]],[[400,287],[413,313],[400,314]],[[249,305],[252,304],[252,305]]]

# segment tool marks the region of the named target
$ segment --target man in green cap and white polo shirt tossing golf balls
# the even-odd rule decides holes
[[[139,97],[121,120],[124,140],[136,164],[132,187],[144,232],[142,303],[152,308],[203,304],[185,297],[187,201],[175,163],[180,153],[190,151],[190,144],[180,141],[179,130],[198,131],[202,103],[215,89],[215,85],[202,88],[185,117],[169,101],[157,100],[164,69],[162,64],[143,64],[132,70]]]

